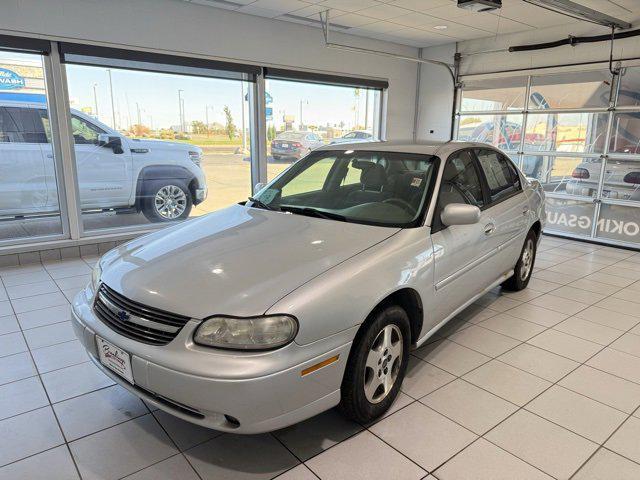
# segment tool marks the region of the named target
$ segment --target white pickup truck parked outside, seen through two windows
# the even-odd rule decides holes
[[[127,138],[73,109],[71,129],[83,211],[131,210],[168,222],[206,198],[201,148]],[[46,104],[0,100],[0,218],[59,209]]]

